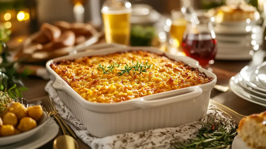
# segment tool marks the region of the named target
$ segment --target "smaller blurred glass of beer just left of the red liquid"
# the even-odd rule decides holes
[[[174,48],[179,48],[182,44],[183,34],[186,30],[187,21],[181,11],[171,11],[171,29],[170,36],[173,39]]]

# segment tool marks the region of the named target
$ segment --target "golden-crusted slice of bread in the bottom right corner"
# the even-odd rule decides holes
[[[248,146],[266,149],[266,111],[242,118],[237,131]]]

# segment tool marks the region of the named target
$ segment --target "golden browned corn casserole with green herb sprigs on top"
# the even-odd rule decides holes
[[[51,68],[84,99],[116,103],[213,80],[163,55],[131,51],[51,63]]]

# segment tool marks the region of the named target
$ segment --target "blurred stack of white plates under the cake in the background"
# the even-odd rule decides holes
[[[262,44],[262,32],[259,26],[215,25],[218,41],[216,59],[249,60],[253,50]],[[252,52],[251,52],[252,51]]]

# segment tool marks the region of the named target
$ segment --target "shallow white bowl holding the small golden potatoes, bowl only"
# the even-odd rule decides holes
[[[26,132],[23,132],[20,134],[16,134],[16,135],[11,135],[11,136],[7,136],[7,137],[0,137],[0,148],[2,148],[1,146],[3,146],[3,145],[16,143],[16,142],[19,142],[19,141],[22,141],[22,140],[25,140],[25,139],[31,137],[32,135],[34,135],[37,131],[39,131],[45,125],[47,118],[48,118],[48,114],[43,111],[43,116],[41,117],[40,122],[37,125],[37,127],[35,127],[34,129],[31,129],[29,131],[26,131]]]

